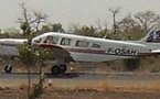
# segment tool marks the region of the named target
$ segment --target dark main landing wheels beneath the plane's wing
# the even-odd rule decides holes
[[[63,65],[55,65],[51,68],[51,73],[53,75],[61,75],[61,74],[64,74],[66,72],[67,67],[65,64]]]

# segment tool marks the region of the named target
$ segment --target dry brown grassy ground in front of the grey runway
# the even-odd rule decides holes
[[[0,97],[2,99],[25,99],[26,80],[0,80]],[[36,80],[32,81],[32,86]],[[40,99],[158,99],[160,81],[141,84],[140,81],[115,82],[114,80],[52,80],[44,82],[44,94]],[[4,86],[3,86],[4,85]],[[122,86],[124,85],[124,86]],[[147,96],[146,96],[147,95]],[[10,98],[11,97],[11,98]]]

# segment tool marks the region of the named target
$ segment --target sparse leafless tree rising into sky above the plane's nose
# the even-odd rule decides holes
[[[46,21],[47,15],[38,11],[33,11],[33,15],[31,15],[25,3],[20,3],[20,7],[22,9],[22,18],[18,20],[23,35],[30,35],[33,28],[35,32],[39,32],[40,24]]]

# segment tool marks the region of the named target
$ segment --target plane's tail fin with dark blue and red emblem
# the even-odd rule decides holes
[[[148,32],[148,34],[141,38],[141,43],[160,43],[160,21]]]

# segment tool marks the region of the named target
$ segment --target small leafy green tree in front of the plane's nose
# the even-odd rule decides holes
[[[19,47],[20,61],[25,65],[28,69],[28,98],[32,99],[33,97],[40,97],[43,90],[43,80],[42,77],[42,67],[44,66],[44,62],[51,55],[47,48],[42,48],[38,45],[31,45],[30,43],[24,43]],[[34,88],[34,91],[31,94],[31,67],[39,65],[40,66],[40,79],[39,84]],[[32,98],[31,98],[32,97]]]

